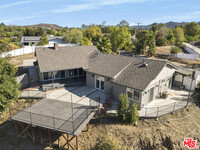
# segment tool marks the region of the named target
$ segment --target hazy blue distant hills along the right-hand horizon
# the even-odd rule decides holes
[[[177,25],[178,26],[181,26],[181,25],[186,25],[186,23],[188,23],[188,22],[173,22],[173,21],[170,21],[170,22],[167,22],[167,23],[165,23],[166,24],[166,26],[168,27],[168,28],[175,28]],[[160,23],[158,23],[158,25],[159,25]],[[198,24],[200,25],[200,22],[198,22]],[[140,28],[141,29],[150,29],[151,28],[151,26],[152,26],[152,24],[150,24],[150,25],[140,25]],[[132,28],[138,28],[138,26],[131,26]]]

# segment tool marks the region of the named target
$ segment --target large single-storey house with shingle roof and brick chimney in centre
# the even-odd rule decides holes
[[[178,68],[168,61],[104,54],[95,46],[37,48],[40,80],[84,76],[86,85],[110,93],[121,93],[144,107],[172,87]]]

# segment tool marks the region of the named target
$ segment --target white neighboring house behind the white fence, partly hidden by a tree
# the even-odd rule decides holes
[[[30,46],[30,45],[36,45],[40,42],[40,36],[23,36],[21,37],[21,46]],[[65,42],[62,40],[62,36],[48,36],[48,41],[50,46],[53,46],[54,43],[58,44],[65,44]]]

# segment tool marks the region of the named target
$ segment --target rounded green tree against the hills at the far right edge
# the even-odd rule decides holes
[[[187,24],[185,25],[185,34],[186,34],[187,36],[192,36],[192,37],[194,37],[194,36],[198,35],[199,32],[200,32],[200,28],[199,28],[198,23],[196,23],[196,22],[191,22],[191,23],[187,23]]]

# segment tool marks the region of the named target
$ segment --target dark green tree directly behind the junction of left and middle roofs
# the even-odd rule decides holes
[[[104,35],[100,38],[99,43],[97,45],[99,51],[104,53],[111,53],[112,52],[112,45],[110,42],[110,37],[108,35]]]

